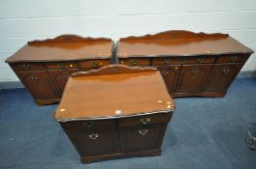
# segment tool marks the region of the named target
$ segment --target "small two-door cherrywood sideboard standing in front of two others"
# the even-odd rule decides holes
[[[158,70],[110,65],[72,74],[54,119],[89,163],[160,155],[174,109]]]

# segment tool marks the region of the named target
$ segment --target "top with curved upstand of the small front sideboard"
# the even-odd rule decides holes
[[[110,65],[69,78],[54,119],[59,122],[170,112],[175,108],[154,68]]]

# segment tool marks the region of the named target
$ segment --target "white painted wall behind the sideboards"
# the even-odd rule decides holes
[[[27,41],[61,34],[118,40],[166,30],[221,32],[256,51],[255,0],[0,0],[0,81],[4,63]],[[255,55],[242,70],[256,70]]]

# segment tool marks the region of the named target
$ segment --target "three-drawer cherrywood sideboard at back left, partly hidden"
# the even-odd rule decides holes
[[[71,73],[112,63],[111,39],[62,35],[27,42],[6,62],[39,105],[59,102]]]

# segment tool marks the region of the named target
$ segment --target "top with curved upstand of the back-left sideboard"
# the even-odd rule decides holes
[[[112,57],[111,39],[62,35],[44,41],[27,42],[6,62],[48,62]]]

